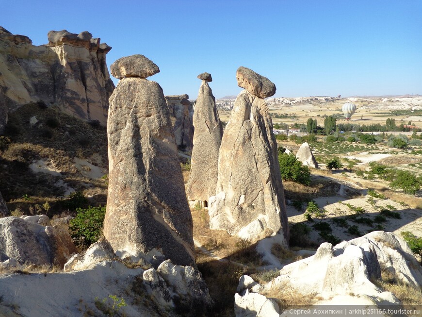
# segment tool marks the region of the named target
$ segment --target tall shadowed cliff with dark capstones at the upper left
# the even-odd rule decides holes
[[[111,47],[99,41],[89,32],[50,31],[49,44],[34,46],[0,27],[0,132],[7,112],[38,101],[106,125],[114,90],[105,57]]]

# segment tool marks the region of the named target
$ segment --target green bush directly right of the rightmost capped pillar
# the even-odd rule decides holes
[[[293,181],[304,185],[310,184],[309,167],[304,166],[293,154],[278,154],[278,163],[280,164],[281,178],[284,181]]]

